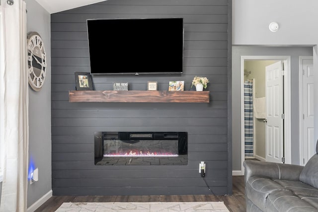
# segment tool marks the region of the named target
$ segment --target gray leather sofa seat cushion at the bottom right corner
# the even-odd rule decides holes
[[[264,211],[268,212],[318,212],[314,206],[290,191],[275,191],[269,194],[265,208]]]

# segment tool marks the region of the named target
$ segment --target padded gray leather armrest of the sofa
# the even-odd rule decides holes
[[[299,180],[304,166],[285,163],[273,163],[256,160],[245,160],[245,182],[252,176],[264,176],[271,179]]]

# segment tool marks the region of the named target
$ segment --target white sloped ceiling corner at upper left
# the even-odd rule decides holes
[[[104,0],[36,0],[50,14]]]

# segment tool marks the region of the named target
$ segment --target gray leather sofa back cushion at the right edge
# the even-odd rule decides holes
[[[299,177],[300,181],[318,188],[318,154],[307,162]]]

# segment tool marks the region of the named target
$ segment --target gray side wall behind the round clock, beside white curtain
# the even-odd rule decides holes
[[[29,86],[29,161],[39,168],[39,181],[28,184],[28,207],[52,189],[51,167],[51,15],[35,0],[26,1],[27,32],[40,34],[47,53],[46,78],[39,92]]]

